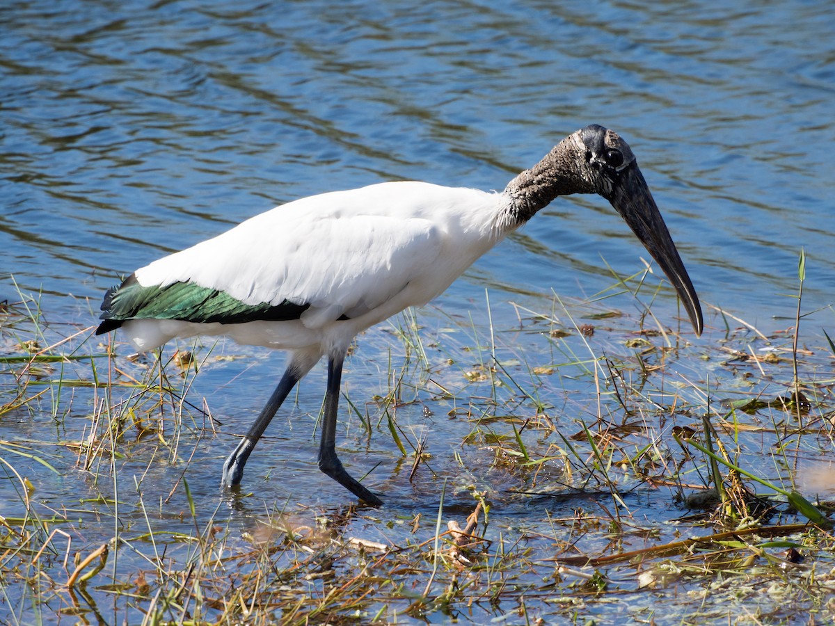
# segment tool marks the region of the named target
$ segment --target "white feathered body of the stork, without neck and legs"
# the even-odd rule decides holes
[[[154,290],[144,315],[161,317],[120,326],[139,351],[196,335],[319,356],[344,349],[441,294],[504,238],[514,227],[500,222],[506,204],[502,194],[418,182],[283,204],[136,270],[134,289]],[[261,319],[265,305],[291,319]]]

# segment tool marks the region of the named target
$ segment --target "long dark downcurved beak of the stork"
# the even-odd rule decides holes
[[[676,244],[667,230],[664,218],[652,199],[650,188],[646,186],[643,174],[640,173],[638,165],[630,164],[621,170],[618,179],[612,184],[610,197],[608,198],[620,216],[626,220],[632,231],[644,245],[646,250],[655,259],[660,268],[664,270],[667,278],[676,288],[676,293],[690,321],[696,335],[701,335],[704,323],[701,319],[701,305],[699,296],[693,288],[690,276],[681,257],[676,250]]]

